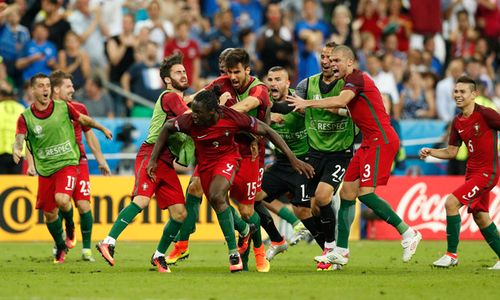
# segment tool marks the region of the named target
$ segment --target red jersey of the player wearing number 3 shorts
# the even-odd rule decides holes
[[[343,90],[350,90],[356,94],[347,104],[347,108],[352,120],[363,134],[362,145],[387,144],[389,141],[399,140],[385,111],[382,96],[370,76],[354,69],[344,81]]]

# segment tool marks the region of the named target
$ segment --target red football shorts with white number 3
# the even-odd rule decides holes
[[[347,167],[344,181],[359,179],[359,185],[365,187],[386,185],[398,150],[399,140],[388,144],[361,146]]]

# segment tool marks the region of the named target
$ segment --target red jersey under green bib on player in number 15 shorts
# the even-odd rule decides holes
[[[236,91],[231,84],[231,80],[228,76],[220,76],[216,78],[212,83],[210,83],[206,89],[213,90],[215,86],[218,87],[218,95],[220,96],[225,92],[229,92],[231,94],[231,99],[226,102],[226,106],[231,107],[236,104],[238,101],[241,101],[241,97],[247,92],[249,86],[255,81],[257,78],[250,76],[250,80],[248,84],[241,88],[241,90]],[[252,96],[259,99],[259,106],[257,106],[254,110],[248,112],[247,114],[251,114],[256,117],[258,120],[266,122],[267,110],[271,107],[271,101],[269,99],[269,90],[266,85],[259,84],[251,87],[248,90],[247,96]],[[245,97],[246,98],[246,97]],[[240,148],[240,154],[242,157],[252,157],[252,152],[250,150],[250,144],[253,141],[253,138],[249,137],[247,134],[238,134],[236,136],[236,142]],[[264,142],[261,140],[259,143],[259,155],[261,159],[264,158]]]

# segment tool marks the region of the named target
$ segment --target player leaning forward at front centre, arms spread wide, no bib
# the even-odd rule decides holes
[[[220,106],[217,96],[211,91],[198,93],[191,110],[191,114],[165,123],[151,154],[147,166],[148,174],[152,178],[157,176],[155,172],[158,172],[160,166],[157,166],[156,161],[170,134],[184,132],[193,138],[203,192],[215,210],[224,234],[229,250],[229,269],[231,272],[238,272],[243,269],[243,263],[236,247],[232,210],[229,208],[227,196],[241,161],[236,134],[245,131],[266,136],[283,151],[299,173],[310,176],[314,170],[310,165],[298,160],[285,141],[268,125],[254,117]]]

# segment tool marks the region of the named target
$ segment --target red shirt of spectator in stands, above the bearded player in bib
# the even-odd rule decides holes
[[[201,57],[200,47],[198,47],[198,43],[196,43],[196,41],[194,40],[180,42],[176,39],[171,39],[165,44],[163,55],[167,57],[174,53],[182,54],[182,64],[184,68],[186,68],[189,85],[191,85],[193,83],[194,62],[196,61],[196,59],[200,59]]]

